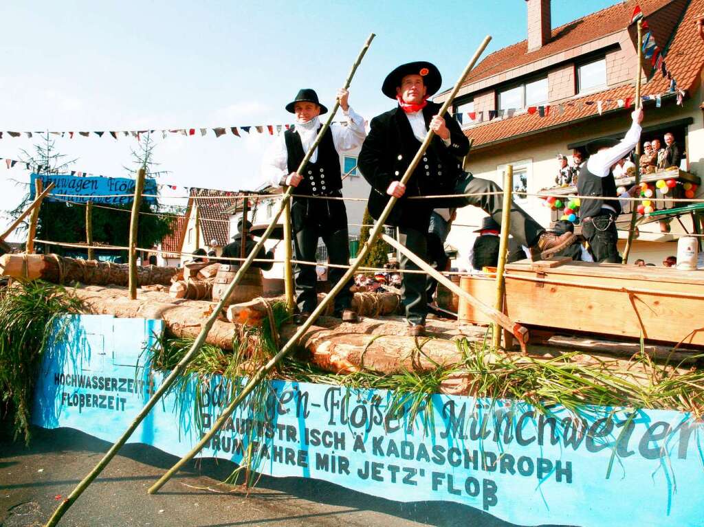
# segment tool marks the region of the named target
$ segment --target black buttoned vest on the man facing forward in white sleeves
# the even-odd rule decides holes
[[[288,153],[289,173],[295,172],[306,155],[301,144],[301,136],[296,134],[294,128],[291,127],[291,129],[284,132],[284,139]],[[323,134],[318,146],[318,160],[315,163],[308,161],[306,169],[303,170],[301,176],[303,181],[296,187],[296,194],[329,196],[332,193],[339,195],[339,191],[342,189],[340,156],[335,150],[330,129],[327,129],[327,132]]]

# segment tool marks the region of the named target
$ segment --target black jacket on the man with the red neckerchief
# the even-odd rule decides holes
[[[426,128],[440,108],[439,104],[431,102],[423,108]],[[398,200],[386,224],[427,231],[430,213],[436,205],[430,200],[406,198],[454,192],[455,182],[462,172],[461,158],[469,152],[470,142],[457,121],[447,113],[444,117],[450,130],[450,146],[445,146],[438,136],[433,138],[406,184],[406,194]],[[372,186],[369,212],[375,219],[381,215],[391,197],[386,189],[391,182],[401,180],[418,148],[420,141],[413,135],[406,113],[400,107],[372,119],[369,135],[359,154],[358,165]]]

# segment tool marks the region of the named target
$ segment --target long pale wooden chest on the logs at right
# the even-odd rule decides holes
[[[462,277],[489,302],[492,277]],[[704,345],[704,272],[592,262],[522,260],[506,266],[506,315],[520,324]],[[488,324],[460,303],[464,322]]]

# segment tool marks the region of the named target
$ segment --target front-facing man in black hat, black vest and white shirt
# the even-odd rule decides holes
[[[348,265],[349,236],[347,212],[344,201],[321,199],[342,197],[340,152],[352,150],[362,144],[366,136],[364,119],[350,108],[348,91],[340,89],[337,99],[347,120],[347,126],[334,124],[322,136],[320,145],[310,156],[305,173],[298,174],[298,165],[315,142],[322,127],[319,115],[327,108],[318,101],[312,89],[301,89],[296,99],[286,109],[296,115],[296,125],[280,136],[266,153],[262,171],[274,186],[295,186],[298,196],[291,203],[291,226],[293,228],[296,260],[315,262],[318,239],[327,247],[331,264]],[[309,197],[301,197],[310,196]],[[331,267],[330,281],[337,283],[345,269]],[[296,304],[298,315],[295,322],[302,324],[318,305],[315,264],[295,264]],[[346,322],[356,322],[357,314],[350,309],[352,292],[349,283],[335,297],[334,315]]]

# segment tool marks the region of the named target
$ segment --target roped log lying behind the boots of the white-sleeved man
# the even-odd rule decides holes
[[[318,295],[318,301],[320,302],[324,297],[324,294]],[[274,300],[281,299],[271,299],[271,301]],[[393,315],[398,311],[398,307],[400,306],[401,296],[398,296],[396,293],[354,293],[352,297],[352,309],[356,310],[358,315],[363,317]],[[325,315],[332,315],[333,309],[332,305],[328,305]],[[266,317],[267,308],[264,300],[255,299],[250,302],[232,304],[230,307],[227,307],[227,319],[234,324],[260,326]]]

